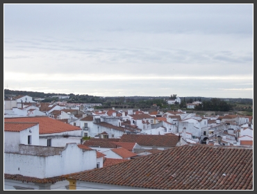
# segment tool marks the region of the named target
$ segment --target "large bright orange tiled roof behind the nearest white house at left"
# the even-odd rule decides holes
[[[4,118],[4,121],[10,122],[10,123],[13,123],[13,122],[39,123],[40,134],[51,134],[51,133],[81,130],[80,127],[63,123],[54,118],[50,118],[48,116],[15,117],[15,118],[12,117],[12,118]]]

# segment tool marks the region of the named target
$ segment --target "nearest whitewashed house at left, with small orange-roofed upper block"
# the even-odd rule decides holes
[[[97,157],[96,150],[77,143],[39,145],[40,130],[45,130],[41,124],[5,122],[4,190],[67,190],[70,183],[64,175],[103,166],[103,154]]]

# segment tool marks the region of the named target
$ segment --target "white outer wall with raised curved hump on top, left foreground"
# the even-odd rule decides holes
[[[97,167],[97,152],[82,150],[76,143],[67,144],[60,155],[35,156],[5,153],[4,172],[40,179],[67,175]]]

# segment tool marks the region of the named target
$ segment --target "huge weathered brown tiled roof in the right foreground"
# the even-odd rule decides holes
[[[158,190],[252,190],[253,150],[183,145],[68,177]]]

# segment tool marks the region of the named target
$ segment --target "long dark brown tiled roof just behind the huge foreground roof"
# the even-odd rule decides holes
[[[132,142],[139,145],[173,147],[179,142],[179,136],[158,134],[123,134],[119,142]]]

